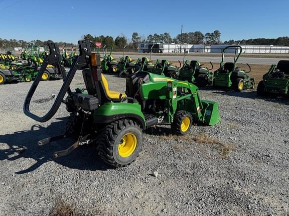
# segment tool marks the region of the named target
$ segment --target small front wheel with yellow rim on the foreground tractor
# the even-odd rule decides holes
[[[185,135],[190,131],[192,124],[193,124],[192,115],[185,110],[180,110],[177,111],[174,115],[174,120],[171,125],[171,129],[177,135]]]

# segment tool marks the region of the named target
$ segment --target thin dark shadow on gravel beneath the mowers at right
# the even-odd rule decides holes
[[[269,95],[267,97],[258,96],[256,91],[237,92],[237,91],[230,91],[230,90],[227,90],[227,91],[226,90],[219,90],[219,91],[214,91],[213,93],[227,95],[227,96],[243,97],[243,98],[263,99],[266,101],[276,102],[279,104],[289,104],[288,97],[281,97],[281,96],[276,97],[276,96],[272,96],[272,95]]]

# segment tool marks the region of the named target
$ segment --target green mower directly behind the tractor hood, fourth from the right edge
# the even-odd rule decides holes
[[[177,78],[179,75],[179,68],[177,66],[173,66],[166,59],[163,60],[157,59],[151,72],[159,75],[164,75],[167,77]]]

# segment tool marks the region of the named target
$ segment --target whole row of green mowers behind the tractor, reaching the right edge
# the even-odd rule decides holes
[[[225,62],[225,52],[228,49],[235,49],[233,62]],[[111,51],[109,55],[104,55],[101,61],[101,68],[104,72],[118,72],[120,77],[125,77],[125,73],[133,73],[140,70],[164,75],[178,80],[188,81],[198,87],[212,86],[215,88],[229,88],[235,91],[243,89],[253,89],[255,79],[248,73],[251,71],[249,64],[246,64],[249,71],[240,69],[237,66],[237,60],[242,53],[242,47],[239,45],[227,46],[223,49],[220,66],[217,70],[204,67],[198,60],[186,60],[181,67],[174,66],[168,60],[157,59],[156,63],[150,62],[147,57],[132,60],[129,56],[120,57],[119,61],[113,60]],[[179,61],[180,62],[180,61]],[[181,62],[180,62],[181,65]],[[264,96],[287,95],[289,96],[289,61],[280,60],[277,64],[272,64],[269,71],[264,74],[257,87],[257,94]]]

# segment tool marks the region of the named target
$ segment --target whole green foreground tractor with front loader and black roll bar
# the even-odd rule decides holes
[[[182,135],[189,132],[194,122],[214,125],[220,121],[218,103],[202,100],[197,86],[186,81],[138,69],[125,73],[125,93],[110,90],[100,69],[100,55],[91,53],[88,40],[78,43],[80,54],[67,75],[58,47],[49,43],[50,55],[45,57],[24,103],[25,114],[40,122],[51,119],[62,102],[66,104],[70,117],[65,134],[39,141],[39,145],[44,145],[65,137],[75,139],[74,144],[55,152],[54,157],[93,143],[104,161],[121,167],[135,160],[142,148],[142,131],[153,125],[170,124],[172,132]],[[30,102],[48,63],[57,65],[64,83],[48,113],[37,116],[30,112]],[[85,88],[72,91],[69,86],[77,69],[83,69]]]

